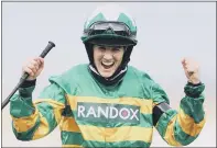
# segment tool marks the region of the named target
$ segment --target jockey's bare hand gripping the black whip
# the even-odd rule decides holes
[[[41,57],[30,59],[23,67],[22,72],[28,72],[30,76],[26,80],[34,80],[44,69],[44,59]]]

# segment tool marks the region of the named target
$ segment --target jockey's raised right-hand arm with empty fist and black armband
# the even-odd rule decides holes
[[[186,146],[194,141],[205,124],[203,109],[205,89],[198,78],[198,66],[187,59],[182,61],[188,79],[185,96],[178,111],[170,107],[169,99],[159,84],[153,86],[153,123],[162,138],[172,146]]]

